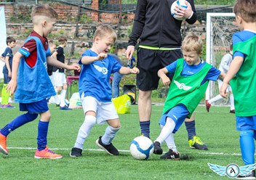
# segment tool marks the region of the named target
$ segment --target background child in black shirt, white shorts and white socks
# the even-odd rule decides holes
[[[64,47],[68,44],[68,39],[65,36],[60,36],[58,39],[59,46],[52,54],[52,57],[57,58],[58,61],[65,63]],[[72,110],[65,105],[65,94],[67,92],[67,80],[65,78],[65,70],[61,67],[53,68],[53,78],[55,81],[56,92],[60,92],[60,110]]]

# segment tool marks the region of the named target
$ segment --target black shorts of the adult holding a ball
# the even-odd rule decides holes
[[[159,51],[151,49],[137,49],[137,88],[142,91],[151,91],[159,86],[157,72],[175,60],[183,57],[180,49],[171,51]]]

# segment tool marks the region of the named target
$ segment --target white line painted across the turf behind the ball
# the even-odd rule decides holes
[[[9,150],[36,150],[36,147],[8,147]],[[71,150],[71,148],[50,148],[50,150]],[[87,151],[104,151],[100,149],[84,149]],[[119,150],[119,152],[129,152],[129,150]],[[165,153],[165,152],[164,152]],[[195,152],[185,152],[184,154],[195,154]],[[196,152],[199,155],[241,155],[238,153],[224,153],[224,152]]]

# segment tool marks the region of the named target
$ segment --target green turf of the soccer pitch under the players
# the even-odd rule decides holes
[[[0,108],[0,128],[20,115],[18,105],[15,109]],[[151,118],[151,140],[160,133],[159,118],[162,106],[153,105]],[[204,107],[196,109],[196,132],[207,144],[209,151],[192,150],[188,146],[185,126],[175,134],[175,143],[180,156],[188,160],[161,160],[159,155],[151,155],[148,160],[135,160],[129,154],[129,144],[140,136],[137,105],[132,105],[130,114],[119,115],[121,129],[113,144],[120,150],[119,156],[108,155],[100,150],[95,140],[105,132],[107,124],[94,126],[84,143],[81,158],[69,157],[76,136],[84,122],[83,110],[61,111],[49,105],[51,121],[48,133],[48,146],[63,155],[60,160],[37,160],[36,136],[39,118],[27,123],[9,134],[7,147],[9,155],[0,154],[1,179],[228,179],[213,172],[207,163],[226,166],[236,163],[244,165],[239,149],[239,131],[233,114],[228,107],[211,107],[206,113]],[[167,152],[166,144],[162,145]],[[111,168],[110,168],[111,167]],[[15,169],[15,171],[14,171]],[[39,175],[40,173],[40,175]]]

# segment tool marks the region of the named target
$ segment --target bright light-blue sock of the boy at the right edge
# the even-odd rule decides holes
[[[255,141],[253,131],[240,132],[241,158],[245,165],[255,163]]]

